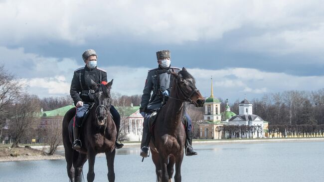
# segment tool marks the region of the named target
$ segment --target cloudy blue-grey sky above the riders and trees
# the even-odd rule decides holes
[[[142,94],[156,51],[231,102],[324,86],[320,0],[0,0],[0,64],[40,97],[69,94],[93,48],[113,91]]]

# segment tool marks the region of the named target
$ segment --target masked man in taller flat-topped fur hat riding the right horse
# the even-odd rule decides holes
[[[151,138],[151,133],[149,131],[149,118],[153,111],[162,107],[163,97],[167,97],[171,91],[171,81],[172,75],[168,73],[168,70],[173,72],[179,72],[179,68],[170,66],[170,51],[161,50],[157,52],[157,58],[159,67],[149,70],[148,77],[146,79],[145,87],[142,95],[142,102],[140,113],[144,117],[143,123],[143,137],[141,143],[141,156],[148,157],[149,152],[149,142]],[[151,96],[151,92],[153,94]],[[191,118],[184,112],[184,116],[187,120],[186,142],[185,142],[185,154],[186,156],[197,155],[197,153],[192,149],[192,126]]]

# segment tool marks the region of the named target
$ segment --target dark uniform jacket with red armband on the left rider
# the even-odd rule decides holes
[[[98,67],[90,69],[87,65],[74,71],[70,88],[70,95],[74,101],[74,105],[78,101],[85,103],[94,102],[94,98],[91,95],[94,89],[91,86],[91,80],[96,83],[107,83],[107,72]]]

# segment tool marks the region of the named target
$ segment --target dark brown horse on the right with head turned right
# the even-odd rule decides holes
[[[173,82],[171,95],[162,107],[155,122],[154,139],[150,142],[152,160],[156,166],[159,182],[171,182],[175,164],[174,181],[181,182],[181,163],[185,144],[185,128],[181,122],[184,102],[202,107],[204,98],[195,86],[194,78],[182,68],[171,72]]]

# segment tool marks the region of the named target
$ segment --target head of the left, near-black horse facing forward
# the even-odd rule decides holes
[[[108,117],[109,109],[111,106],[111,95],[110,89],[111,85],[113,84],[112,79],[106,85],[104,84],[97,84],[91,80],[92,87],[95,90],[94,99],[95,99],[95,107],[96,107],[96,118],[98,125],[105,125],[106,119]]]

